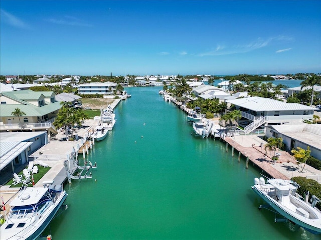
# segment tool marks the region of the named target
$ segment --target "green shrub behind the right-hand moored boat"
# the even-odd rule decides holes
[[[309,191],[309,200],[311,199],[312,195],[321,198],[321,184],[319,184],[317,181],[306,179],[302,176],[293,177],[291,180],[295,181],[301,186],[299,189],[297,189],[297,193],[301,196],[304,196],[304,192]],[[321,209],[321,202],[318,202],[316,207]]]

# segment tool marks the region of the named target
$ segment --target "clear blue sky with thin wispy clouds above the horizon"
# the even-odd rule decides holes
[[[1,0],[0,74],[321,72],[319,0]]]

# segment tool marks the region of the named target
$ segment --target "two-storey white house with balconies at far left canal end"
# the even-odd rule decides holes
[[[117,83],[110,81],[80,84],[78,86],[78,94],[112,95],[112,92],[116,89],[116,86]]]

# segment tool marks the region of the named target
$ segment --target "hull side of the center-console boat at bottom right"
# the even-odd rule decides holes
[[[265,195],[262,191],[258,190],[256,187],[252,186],[253,191],[259,195],[266,203],[268,203],[276,212],[278,212],[280,215],[284,216],[286,219],[290,220],[291,222],[301,226],[302,228],[306,229],[307,231],[313,233],[313,234],[321,234],[321,225],[320,227],[314,227],[306,222],[301,221],[300,219],[297,219],[293,215],[291,215],[285,207],[281,206],[277,203],[276,200],[269,197],[268,195]]]

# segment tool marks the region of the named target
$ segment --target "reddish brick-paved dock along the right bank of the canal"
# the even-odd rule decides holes
[[[277,179],[289,179],[287,176],[283,175],[281,172],[273,168],[272,164],[273,161],[268,156],[265,156],[265,150],[260,151],[260,147],[244,147],[235,142],[231,137],[225,137],[223,139],[228,145],[231,147],[234,147],[235,150],[238,152],[241,152],[243,156],[248,158],[249,161],[251,161],[254,165],[261,168],[263,171],[265,171],[268,175],[270,175],[273,178]],[[277,163],[275,163],[277,164]]]

